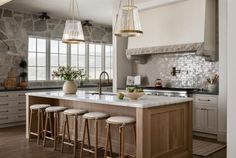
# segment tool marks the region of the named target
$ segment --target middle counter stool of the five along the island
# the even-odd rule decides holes
[[[73,154],[74,154],[74,157],[76,157],[76,149],[77,149],[77,143],[78,143],[78,140],[77,140],[78,139],[78,116],[81,116],[85,113],[87,113],[87,111],[81,110],[81,109],[67,109],[63,112],[64,123],[63,123],[61,152],[63,152],[64,144],[67,144],[74,147]],[[69,121],[68,121],[69,116],[74,117],[74,143],[71,143],[71,139],[70,139]],[[68,142],[65,141],[66,129],[67,129]]]

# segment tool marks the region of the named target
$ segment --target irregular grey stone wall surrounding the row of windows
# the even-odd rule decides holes
[[[19,62],[22,58],[27,59],[29,35],[61,39],[64,25],[65,19],[53,17],[49,20],[40,20],[38,15],[0,8],[0,38],[15,53],[15,55],[6,54],[7,48],[0,41],[0,83],[7,78],[7,74],[12,68],[19,75]],[[84,35],[88,42],[112,44],[110,26],[93,24],[90,28],[84,28]],[[54,83],[57,85],[56,82]],[[59,83],[61,84],[61,82]],[[48,85],[52,85],[52,82],[40,83],[38,86]]]

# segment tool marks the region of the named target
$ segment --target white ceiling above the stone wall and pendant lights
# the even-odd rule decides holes
[[[118,0],[77,0],[81,20],[91,20],[92,22],[111,25],[113,4]],[[163,0],[135,0],[136,3],[163,2]],[[180,1],[180,0],[167,0]],[[167,2],[164,0],[164,2]],[[5,5],[4,8],[40,14],[47,12],[52,17],[67,18],[69,16],[70,0],[13,0]],[[153,3],[151,3],[152,5]]]

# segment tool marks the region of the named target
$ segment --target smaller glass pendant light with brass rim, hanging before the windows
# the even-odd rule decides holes
[[[70,11],[72,17],[71,19],[66,20],[62,42],[69,44],[84,42],[84,33],[81,21],[75,19],[76,12],[77,15],[79,14],[77,0],[70,1]]]

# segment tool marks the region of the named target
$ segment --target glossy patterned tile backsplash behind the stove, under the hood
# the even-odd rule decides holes
[[[181,70],[171,75],[172,67]],[[148,57],[146,64],[133,63],[133,75],[143,77],[143,85],[154,86],[156,79],[162,79],[163,86],[206,88],[207,77],[218,74],[218,62],[208,62],[194,53],[160,54]]]

